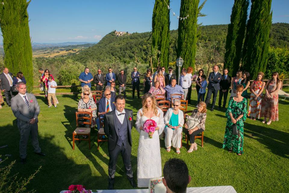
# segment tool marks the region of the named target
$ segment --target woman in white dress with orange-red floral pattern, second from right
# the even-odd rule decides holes
[[[259,72],[256,80],[253,81],[250,91],[250,103],[248,116],[252,117],[253,120],[260,118],[261,101],[263,96],[263,90],[265,82],[263,81],[263,72]]]

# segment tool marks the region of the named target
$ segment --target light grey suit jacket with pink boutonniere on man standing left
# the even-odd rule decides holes
[[[30,126],[29,120],[32,118],[36,119],[35,124],[37,124],[40,112],[40,107],[34,94],[26,93],[26,96],[30,109],[28,109],[19,93],[11,99],[11,109],[14,116],[17,118],[17,126],[20,129],[28,128]]]

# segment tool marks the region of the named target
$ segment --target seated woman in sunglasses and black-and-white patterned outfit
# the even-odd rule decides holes
[[[78,111],[86,111],[86,112],[92,112],[92,125],[91,127],[94,127],[96,122],[96,118],[97,118],[97,107],[96,104],[93,100],[92,97],[89,97],[91,92],[89,89],[84,89],[83,90],[83,99],[80,99],[78,102]]]

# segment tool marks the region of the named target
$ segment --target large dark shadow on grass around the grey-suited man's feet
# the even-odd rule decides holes
[[[11,154],[6,163],[16,160],[11,170],[11,176],[18,173],[17,176],[19,178],[28,178],[39,166],[42,166],[34,179],[27,185],[27,190],[60,192],[61,190],[67,190],[71,184],[82,184],[89,188],[98,188],[95,185],[103,183],[101,178],[97,182],[92,181],[92,172],[89,165],[75,163],[76,154],[74,152],[67,153],[64,147],[58,146],[54,136],[42,136],[40,127],[40,134],[38,135],[39,146],[46,156],[38,156],[33,152],[30,136],[27,144],[27,163],[25,165],[21,164],[19,158],[20,134],[16,119],[13,120],[12,124],[0,127],[1,134],[7,136],[2,138],[1,144],[8,145],[8,147],[1,149],[3,150],[1,154]]]

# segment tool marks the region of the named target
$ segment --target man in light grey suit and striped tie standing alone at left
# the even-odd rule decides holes
[[[39,105],[33,94],[26,93],[26,84],[17,83],[19,93],[11,99],[11,109],[17,118],[17,127],[20,131],[19,153],[20,162],[26,163],[26,147],[31,133],[32,146],[34,152],[40,156],[45,156],[41,152],[38,142],[38,115],[40,112]]]

